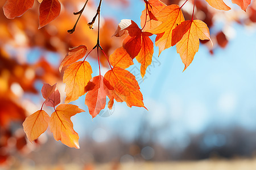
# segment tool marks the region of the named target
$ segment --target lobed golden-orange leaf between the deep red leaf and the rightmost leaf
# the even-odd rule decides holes
[[[155,17],[162,22],[162,24],[148,32],[157,35],[155,45],[159,47],[160,55],[164,49],[171,47],[172,30],[184,21],[184,16],[179,6],[169,5],[158,12]]]

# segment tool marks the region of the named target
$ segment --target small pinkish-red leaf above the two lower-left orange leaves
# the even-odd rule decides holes
[[[56,105],[60,104],[60,92],[59,90],[56,90],[56,84],[51,86],[44,83],[41,92],[44,99],[46,99],[44,104],[46,104],[48,107],[55,107]]]

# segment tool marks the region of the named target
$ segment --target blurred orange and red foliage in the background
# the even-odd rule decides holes
[[[118,3],[113,0],[106,2],[113,6],[118,5],[121,8],[125,8],[129,5],[129,1],[126,0],[122,0]],[[172,3],[180,5],[183,1],[164,0],[163,2],[167,5]],[[57,58],[58,61],[61,61],[67,53],[68,48],[85,44],[88,49],[92,49],[96,44],[97,29],[92,31],[87,25],[92,19],[90,17],[92,17],[96,11],[94,2],[89,1],[89,5],[86,6],[85,15],[82,15],[75,33],[72,35],[67,33],[67,30],[73,27],[77,19],[76,16],[72,15],[73,12],[79,11],[83,3],[84,1],[82,0],[61,0],[62,10],[60,16],[52,23],[39,30],[38,2],[23,16],[13,20],[6,19],[1,10],[0,163],[8,162],[8,160],[11,159],[10,155],[16,151],[25,153],[33,149],[28,147],[27,140],[21,128],[24,118],[34,111],[36,101],[33,101],[33,97],[24,96],[27,94],[31,96],[33,96],[33,94],[38,95],[36,82],[47,82],[49,84],[61,82],[59,69],[46,59],[48,52],[55,53],[56,57],[58,55],[61,56]],[[5,1],[0,1],[1,7],[4,4]],[[184,7],[183,13],[185,19],[191,18],[189,7]],[[127,16],[127,18],[129,18],[129,16]],[[251,2],[246,13],[240,8],[229,12],[218,11],[207,5],[206,2],[196,1],[194,18],[203,20],[210,30],[213,30],[211,32],[211,38],[214,44],[213,48],[208,46],[209,44],[206,44],[210,53],[213,53],[214,49],[219,47],[225,48],[225,46],[228,45],[230,38],[232,38],[229,33],[234,22],[245,25],[246,27],[255,25],[256,1]],[[224,23],[223,26],[220,29],[212,29],[219,21]],[[104,22],[102,22],[101,25],[101,46],[108,56],[122,44],[122,39],[112,37],[116,25],[117,22],[112,18],[104,18]],[[31,50],[35,48],[39,49],[39,52],[32,57],[39,59],[30,62],[29,58],[31,58],[31,56],[28,56],[28,54],[31,54]],[[96,52],[92,53],[92,57],[96,57]],[[105,57],[100,58],[102,65],[106,66]],[[40,97],[40,95],[37,97]],[[137,150],[131,148],[131,153],[135,152],[137,152]],[[118,165],[113,165],[113,167],[115,166],[118,167]],[[84,169],[94,168],[93,165],[86,165]]]

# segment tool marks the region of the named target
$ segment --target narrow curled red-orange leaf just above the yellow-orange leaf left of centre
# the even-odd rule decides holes
[[[69,49],[67,56],[65,56],[63,61],[60,63],[60,72],[64,66],[71,65],[72,63],[84,57],[86,52],[87,47],[85,45],[80,45],[75,48]]]

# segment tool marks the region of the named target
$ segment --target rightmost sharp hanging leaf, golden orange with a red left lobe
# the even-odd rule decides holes
[[[177,53],[185,65],[184,70],[199,50],[199,39],[210,40],[209,28],[201,20],[185,20],[173,30],[173,36],[176,36],[176,39],[173,39],[172,45],[177,43]]]

